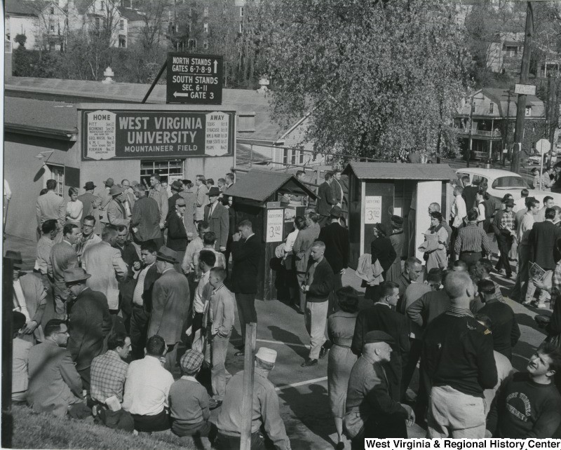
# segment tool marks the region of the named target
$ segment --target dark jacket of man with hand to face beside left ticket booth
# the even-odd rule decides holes
[[[262,245],[257,236],[232,243],[231,292],[255,294],[257,292],[257,274],[261,261]]]

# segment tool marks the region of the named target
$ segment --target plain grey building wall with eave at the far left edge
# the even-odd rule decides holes
[[[36,240],[35,205],[39,191],[45,187],[48,175],[43,161],[35,158],[41,151],[53,151],[47,164],[79,168],[74,142],[7,132],[4,141],[4,178],[10,185],[12,198],[8,207],[6,233],[18,238]],[[65,177],[67,199],[68,177]]]

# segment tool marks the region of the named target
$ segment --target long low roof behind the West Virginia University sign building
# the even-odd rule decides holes
[[[69,103],[78,102],[126,102],[140,103],[149,89],[148,84],[113,83],[99,81],[39,79],[13,76],[6,79],[6,97],[56,98]],[[158,84],[147,103],[165,104],[165,85]],[[222,104],[236,106],[240,113],[255,112],[255,127],[252,132],[238,132],[238,137],[265,142],[276,142],[286,131],[271,119],[269,99],[255,90],[223,89]],[[10,111],[6,108],[6,114]]]

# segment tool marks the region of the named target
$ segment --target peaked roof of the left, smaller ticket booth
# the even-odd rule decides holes
[[[225,194],[265,202],[273,193],[278,191],[297,196],[309,196],[313,200],[317,198],[313,191],[310,191],[290,173],[258,169],[252,169],[243,175],[240,174],[234,186],[231,186]]]

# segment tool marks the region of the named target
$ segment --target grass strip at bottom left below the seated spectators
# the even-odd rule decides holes
[[[13,409],[14,449],[203,449],[192,439],[177,437],[170,431],[152,435],[111,430],[102,425],[55,418],[46,413],[34,413],[25,406]],[[208,440],[205,445],[210,448]]]

